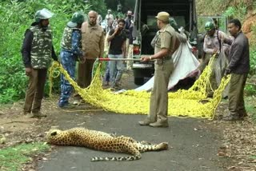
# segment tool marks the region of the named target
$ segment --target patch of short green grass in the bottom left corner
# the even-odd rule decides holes
[[[42,142],[21,144],[0,150],[0,170],[21,170],[22,164],[31,161],[30,156],[50,149],[49,145]]]

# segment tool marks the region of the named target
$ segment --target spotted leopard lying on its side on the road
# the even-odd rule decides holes
[[[46,135],[52,145],[84,146],[90,149],[129,153],[130,157],[93,157],[91,161],[134,161],[142,157],[141,152],[168,149],[168,143],[150,144],[146,141],[135,141],[132,137],[116,137],[101,131],[73,128],[67,130],[50,129]]]

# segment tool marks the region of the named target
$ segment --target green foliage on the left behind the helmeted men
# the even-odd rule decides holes
[[[92,5],[90,4],[92,3]],[[25,97],[27,78],[22,64],[21,47],[26,29],[34,22],[34,14],[37,10],[47,8],[54,13],[50,19],[50,26],[54,32],[54,49],[56,54],[60,52],[62,32],[76,11],[85,14],[90,6],[106,10],[102,1],[83,0],[10,0],[0,4],[0,103],[7,103]],[[59,78],[54,79],[54,89],[59,88]],[[46,90],[49,83],[46,83]],[[46,91],[49,93],[49,91]]]

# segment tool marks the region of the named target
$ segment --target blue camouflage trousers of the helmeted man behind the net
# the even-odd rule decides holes
[[[75,80],[75,58],[74,55],[67,51],[61,52],[61,63],[63,68],[67,71],[70,77]],[[72,93],[73,87],[70,85],[65,78],[65,76],[61,75],[61,97],[59,98],[58,105],[63,106],[68,104],[70,95]]]

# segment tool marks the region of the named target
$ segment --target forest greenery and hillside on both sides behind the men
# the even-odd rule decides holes
[[[27,78],[22,64],[21,47],[24,33],[34,22],[34,13],[42,8],[51,10],[55,15],[50,19],[54,31],[54,48],[60,51],[62,31],[75,11],[96,10],[104,18],[106,10],[114,15],[125,16],[133,10],[135,0],[2,0],[0,2],[0,104],[13,103],[25,97]],[[196,0],[198,16],[225,16],[239,18],[242,30],[250,38],[250,79],[246,84],[246,94],[256,93],[256,2],[253,0]],[[118,12],[118,4],[122,9]],[[207,10],[206,10],[207,9]],[[54,81],[54,92],[59,93],[59,79]],[[49,82],[46,83],[46,96]]]

